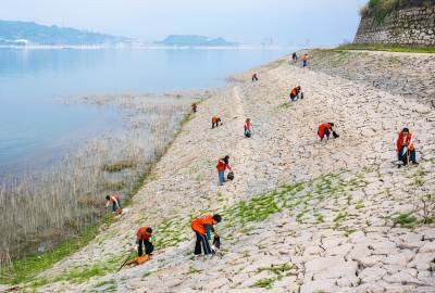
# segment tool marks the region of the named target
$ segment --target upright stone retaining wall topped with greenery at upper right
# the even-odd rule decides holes
[[[435,46],[435,7],[395,11],[382,23],[363,17],[353,43]]]

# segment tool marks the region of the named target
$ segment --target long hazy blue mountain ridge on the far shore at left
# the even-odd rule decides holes
[[[0,44],[103,44],[132,41],[71,27],[45,26],[29,22],[0,21]]]

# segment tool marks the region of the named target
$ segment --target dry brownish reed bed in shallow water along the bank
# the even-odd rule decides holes
[[[203,95],[201,97],[203,98]],[[121,131],[88,140],[44,171],[0,181],[0,265],[53,250],[109,212],[105,195],[129,194],[164,153],[197,93],[85,97],[70,103],[112,106]]]

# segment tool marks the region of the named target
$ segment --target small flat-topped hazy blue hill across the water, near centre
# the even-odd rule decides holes
[[[209,46],[209,47],[238,46],[237,42],[228,42],[223,38],[212,39],[204,36],[194,36],[194,35],[171,35],[167,36],[163,41],[157,41],[156,43],[165,46]]]

